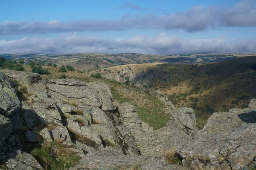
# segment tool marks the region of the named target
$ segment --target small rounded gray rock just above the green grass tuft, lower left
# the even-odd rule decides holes
[[[55,127],[52,130],[52,137],[53,137],[53,140],[57,142],[71,141],[67,128],[62,125]]]

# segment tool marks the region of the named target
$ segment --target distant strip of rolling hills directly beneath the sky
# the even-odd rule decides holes
[[[256,54],[183,54],[183,55],[145,55],[140,53],[120,53],[120,54],[102,54],[102,53],[74,53],[63,55],[49,54],[16,54],[4,55],[11,60],[24,60],[26,63],[34,61],[41,65],[47,63],[57,64],[58,66],[73,66],[75,69],[90,72],[96,69],[104,69],[112,66],[141,63],[186,63],[186,64],[204,64],[216,61],[229,60],[231,58],[240,58]]]

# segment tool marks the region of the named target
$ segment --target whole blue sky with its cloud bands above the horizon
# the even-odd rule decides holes
[[[3,0],[0,54],[256,53],[256,0]]]

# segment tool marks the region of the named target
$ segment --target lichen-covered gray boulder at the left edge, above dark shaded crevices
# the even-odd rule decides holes
[[[6,75],[0,72],[0,114],[12,115],[19,112],[21,107],[15,89],[9,83]]]

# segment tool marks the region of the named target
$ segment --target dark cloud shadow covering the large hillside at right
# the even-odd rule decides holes
[[[212,114],[221,110],[228,111],[232,107],[245,107],[250,99],[256,98],[254,88],[256,71],[253,70],[252,63],[256,63],[255,56],[205,65],[159,64],[142,70],[131,83],[142,82],[147,86],[156,86],[156,89],[159,88],[161,92],[169,95],[172,95],[167,91],[169,87],[175,87],[177,89],[177,92],[175,93],[174,90],[173,93],[175,101],[184,101],[183,94],[187,96],[186,100],[189,100],[189,92],[191,92],[199,98],[197,101],[199,106],[195,105],[195,111],[198,109],[200,115]],[[178,92],[181,84],[188,85],[190,91]],[[207,93],[204,94],[204,92]],[[193,103],[196,104],[195,101]],[[207,106],[211,109],[210,111]],[[193,106],[191,104],[187,107]]]

